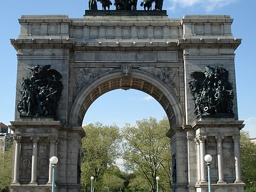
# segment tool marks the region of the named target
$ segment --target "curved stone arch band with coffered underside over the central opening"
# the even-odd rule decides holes
[[[135,70],[130,76],[122,76],[120,72],[102,74],[85,86],[74,99],[69,124],[72,126],[82,126],[87,109],[93,102],[108,91],[122,88],[148,93],[156,99],[166,112],[170,126],[183,124],[183,113],[180,102],[174,93],[163,81],[157,79],[152,74]]]

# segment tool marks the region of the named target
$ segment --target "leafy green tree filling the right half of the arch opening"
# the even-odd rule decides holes
[[[124,137],[124,161],[126,169],[138,171],[136,174],[137,183],[139,180],[146,180],[148,187],[156,191],[156,177],[162,179],[162,190],[170,191],[171,187],[171,146],[166,132],[169,130],[168,119],[164,118],[159,123],[155,118],[137,121],[135,126],[126,124],[123,128]],[[168,185],[166,185],[168,183]],[[140,186],[137,185],[137,188]],[[144,185],[144,184],[143,184]],[[167,187],[166,187],[167,186]]]

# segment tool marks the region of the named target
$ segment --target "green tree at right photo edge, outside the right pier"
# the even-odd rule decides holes
[[[249,132],[240,132],[241,169],[245,192],[256,191],[256,144],[249,138]]]

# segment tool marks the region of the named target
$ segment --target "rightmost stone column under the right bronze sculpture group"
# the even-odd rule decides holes
[[[232,137],[234,141],[235,153],[235,183],[241,183],[241,162],[240,162],[240,136],[235,135]]]

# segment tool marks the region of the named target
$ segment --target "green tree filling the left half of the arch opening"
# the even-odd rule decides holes
[[[94,188],[102,191],[103,176],[119,157],[119,128],[96,123],[84,126],[84,130],[87,135],[82,139],[81,183],[82,186],[89,185],[93,176]]]

